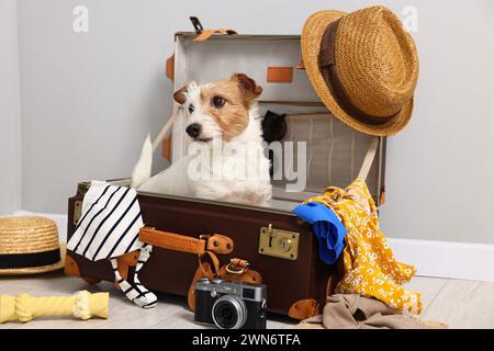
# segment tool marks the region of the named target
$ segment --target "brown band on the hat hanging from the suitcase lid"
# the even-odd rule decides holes
[[[338,78],[338,73],[336,71],[335,46],[336,46],[336,33],[338,31],[339,23],[340,19],[332,22],[326,27],[323,38],[321,41],[321,50],[319,50],[321,73],[323,75],[324,80],[326,81],[333,97],[335,98],[339,106],[347,114],[364,124],[383,125],[393,120],[396,115],[398,115],[401,111],[390,116],[373,116],[361,111],[348,98],[347,93],[345,92],[345,88],[341,83],[341,80]]]

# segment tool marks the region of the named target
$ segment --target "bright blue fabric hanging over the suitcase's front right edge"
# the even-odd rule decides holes
[[[312,231],[319,241],[319,258],[327,264],[333,264],[345,248],[347,228],[335,213],[323,204],[310,202],[293,208],[302,220],[312,225]]]

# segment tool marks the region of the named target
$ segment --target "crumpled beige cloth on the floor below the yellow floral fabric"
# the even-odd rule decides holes
[[[445,329],[447,325],[405,316],[384,303],[357,294],[328,297],[323,315],[303,320],[301,329]]]

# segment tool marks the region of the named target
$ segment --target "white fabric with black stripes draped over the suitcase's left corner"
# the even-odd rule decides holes
[[[144,287],[137,274],[147,261],[153,246],[138,239],[144,226],[137,193],[127,186],[92,181],[82,201],[81,217],[67,244],[67,249],[91,261],[108,259],[112,263],[115,281],[127,296],[141,307],[156,305],[156,295]],[[122,279],[116,258],[139,250],[134,284]]]

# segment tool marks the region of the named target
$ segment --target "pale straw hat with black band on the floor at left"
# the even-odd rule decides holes
[[[35,274],[64,268],[57,225],[38,216],[0,218],[0,275]]]

